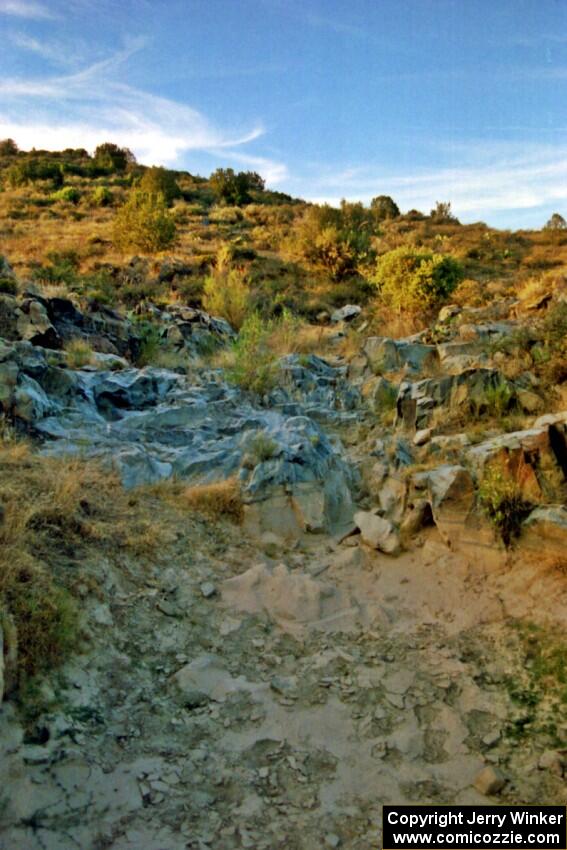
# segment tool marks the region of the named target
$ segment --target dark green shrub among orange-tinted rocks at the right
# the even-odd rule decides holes
[[[522,523],[534,505],[524,498],[519,484],[491,467],[478,491],[480,507],[506,547],[519,537]]]

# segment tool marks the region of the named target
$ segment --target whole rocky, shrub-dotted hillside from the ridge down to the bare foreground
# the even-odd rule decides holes
[[[564,804],[560,217],[112,145],[3,143],[0,181],[0,848]]]

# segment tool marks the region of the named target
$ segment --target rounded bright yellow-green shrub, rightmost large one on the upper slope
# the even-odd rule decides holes
[[[453,257],[402,246],[383,254],[373,281],[398,312],[424,313],[439,306],[463,279]]]

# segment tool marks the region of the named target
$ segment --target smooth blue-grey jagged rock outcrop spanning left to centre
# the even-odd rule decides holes
[[[0,400],[42,438],[46,454],[100,458],[126,487],[238,476],[261,530],[350,527],[355,473],[315,418],[352,416],[340,407],[357,396],[343,398],[342,376],[318,358],[312,372],[290,366],[288,389],[280,390],[287,402],[267,410],[215,371],[195,378],[156,368],[71,370],[26,343],[4,346],[0,357]]]

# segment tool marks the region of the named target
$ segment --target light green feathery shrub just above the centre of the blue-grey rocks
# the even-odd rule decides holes
[[[258,313],[249,316],[233,343],[234,363],[227,369],[227,380],[244,390],[263,394],[277,379],[277,358],[270,348],[272,325]]]

